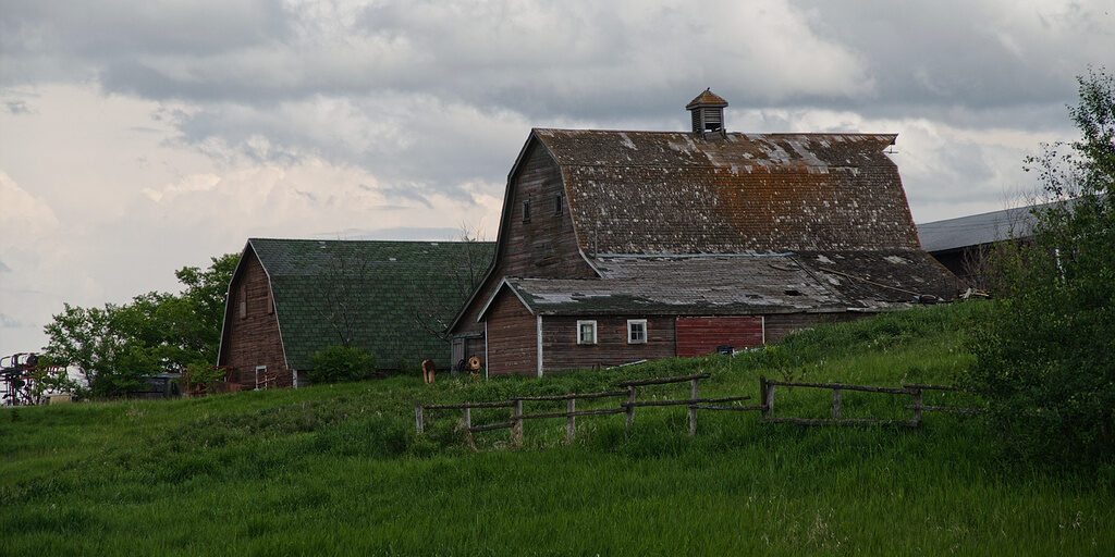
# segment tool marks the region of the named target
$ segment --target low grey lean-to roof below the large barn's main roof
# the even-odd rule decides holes
[[[950,299],[960,289],[921,251],[609,256],[593,262],[600,278],[507,277],[503,287],[531,313],[543,315],[878,311],[925,295]]]

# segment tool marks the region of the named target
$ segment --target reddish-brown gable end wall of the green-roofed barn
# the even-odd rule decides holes
[[[248,388],[255,388],[256,365],[266,365],[269,372],[278,372],[278,387],[291,387],[293,374],[283,358],[279,321],[270,310],[271,286],[266,273],[251,248],[243,257],[229,292],[220,365],[231,367],[234,381]]]

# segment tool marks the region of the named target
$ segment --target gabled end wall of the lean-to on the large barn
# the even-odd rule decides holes
[[[537,322],[522,302],[504,291],[487,313],[488,374],[537,373]]]

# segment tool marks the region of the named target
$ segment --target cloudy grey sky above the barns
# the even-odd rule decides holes
[[[0,0],[0,354],[249,237],[494,240],[532,127],[894,133],[917,222],[1076,134],[1115,0]]]

